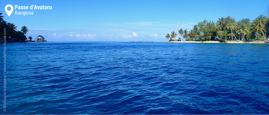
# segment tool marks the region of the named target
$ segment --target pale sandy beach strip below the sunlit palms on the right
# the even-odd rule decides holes
[[[220,41],[164,41],[165,43],[224,43]],[[267,42],[267,43],[266,43]],[[232,44],[269,44],[269,41],[227,41]]]

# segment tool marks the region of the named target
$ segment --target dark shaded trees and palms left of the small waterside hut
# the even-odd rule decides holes
[[[6,41],[25,41],[27,38],[24,34],[27,34],[28,29],[23,26],[21,31],[17,31],[17,26],[13,23],[7,23],[0,12],[0,40],[4,39],[4,31],[6,32]],[[5,29],[5,30],[4,30]]]

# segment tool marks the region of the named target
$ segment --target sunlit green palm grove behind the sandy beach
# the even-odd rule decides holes
[[[265,28],[265,23],[269,20],[266,16],[260,15],[253,21],[242,19],[236,21],[228,16],[227,18],[219,18],[217,23],[213,21],[203,20],[188,32],[186,29],[180,29],[178,34],[184,40],[189,41],[223,41],[223,40],[268,40],[269,33]],[[165,37],[171,39],[177,36],[175,32],[167,34]]]

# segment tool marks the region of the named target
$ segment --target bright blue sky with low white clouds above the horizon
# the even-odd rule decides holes
[[[10,16],[6,5],[12,5]],[[18,6],[52,6],[52,9],[15,9]],[[167,33],[180,27],[190,31],[198,22],[231,16],[235,20],[268,17],[268,0],[12,0],[1,1],[4,20],[26,37],[38,35],[47,41],[167,41]],[[8,10],[11,8],[9,7]],[[33,12],[33,15],[16,15]],[[178,31],[177,30],[177,31]]]

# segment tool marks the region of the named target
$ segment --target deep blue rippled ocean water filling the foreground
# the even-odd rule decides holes
[[[7,48],[7,103],[0,114],[269,114],[269,44],[44,42]]]

